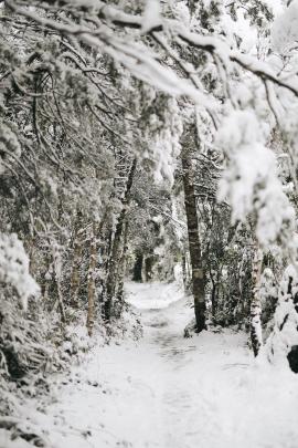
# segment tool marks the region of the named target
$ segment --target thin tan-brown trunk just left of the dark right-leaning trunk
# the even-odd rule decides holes
[[[95,225],[92,228],[91,235],[91,246],[89,246],[89,268],[87,275],[87,291],[88,291],[88,313],[87,313],[87,331],[88,335],[92,336],[94,326],[94,302],[95,302],[95,270],[96,270],[96,258],[97,258],[97,243],[96,243],[96,231]]]

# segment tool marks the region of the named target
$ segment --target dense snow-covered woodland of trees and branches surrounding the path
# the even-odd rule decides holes
[[[127,278],[298,373],[297,41],[297,0],[0,2],[1,414]]]

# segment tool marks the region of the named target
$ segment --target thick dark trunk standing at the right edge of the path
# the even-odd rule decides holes
[[[202,260],[201,240],[199,233],[195,191],[193,184],[192,162],[188,150],[182,152],[184,205],[188,221],[189,250],[192,272],[192,294],[196,332],[205,330],[205,275]]]

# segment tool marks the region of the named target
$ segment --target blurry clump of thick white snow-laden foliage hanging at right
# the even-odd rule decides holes
[[[233,221],[244,221],[252,213],[260,244],[278,241],[290,247],[295,211],[283,191],[275,155],[265,147],[256,116],[248,111],[230,115],[223,122],[219,145],[227,157],[219,199],[231,204]]]

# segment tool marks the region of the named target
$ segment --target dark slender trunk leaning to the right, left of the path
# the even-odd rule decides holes
[[[119,215],[114,240],[111,242],[110,257],[107,268],[106,288],[104,293],[104,309],[103,316],[106,321],[109,321],[113,315],[113,301],[115,300],[117,286],[121,279],[119,279],[119,263],[123,254],[123,237],[125,229],[125,219],[127,213],[127,208],[130,200],[130,190],[132,187],[134,176],[137,167],[137,159],[134,158],[130,170],[128,173],[126,191],[123,198],[123,209]]]

